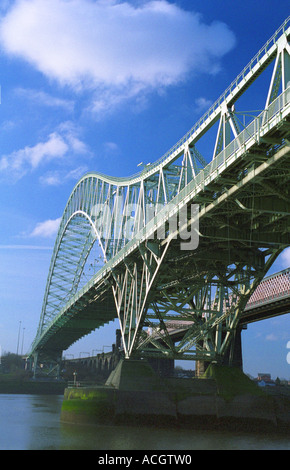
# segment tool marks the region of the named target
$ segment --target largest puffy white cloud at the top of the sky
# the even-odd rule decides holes
[[[0,41],[61,85],[95,90],[99,113],[189,74],[216,73],[235,44],[224,23],[207,25],[166,0],[18,0]]]

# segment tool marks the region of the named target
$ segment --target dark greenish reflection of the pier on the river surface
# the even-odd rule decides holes
[[[154,429],[134,426],[62,425],[63,449],[93,450],[283,450],[290,449],[281,436],[220,431]]]

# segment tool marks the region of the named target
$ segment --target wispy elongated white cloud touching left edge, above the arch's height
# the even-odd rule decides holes
[[[45,141],[15,150],[9,155],[2,155],[0,174],[18,180],[40,165],[52,160],[61,160],[69,153],[80,155],[89,151],[86,144],[79,139],[73,124],[66,122],[52,132]]]

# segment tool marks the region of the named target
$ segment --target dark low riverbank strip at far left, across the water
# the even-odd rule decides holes
[[[63,395],[66,382],[52,382],[0,374],[0,394],[15,395]]]

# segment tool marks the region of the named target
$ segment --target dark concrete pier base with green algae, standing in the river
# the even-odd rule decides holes
[[[237,367],[212,364],[206,379],[161,378],[147,360],[121,359],[104,386],[65,390],[61,421],[160,426],[253,426],[273,429],[282,414],[274,399]],[[282,409],[282,408],[281,408]],[[283,416],[284,416],[283,409]],[[281,420],[287,425],[288,418]],[[260,424],[261,425],[261,424]]]

